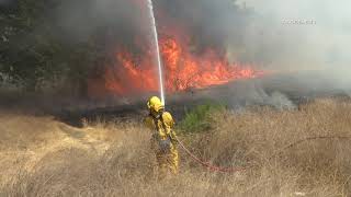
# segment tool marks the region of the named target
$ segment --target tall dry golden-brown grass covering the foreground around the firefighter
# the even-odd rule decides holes
[[[350,196],[351,102],[319,100],[298,111],[268,107],[213,115],[212,130],[183,136],[206,171],[181,152],[181,173],[158,179],[149,134],[138,123],[71,128],[49,117],[0,116],[0,196]],[[21,136],[21,137],[20,137]],[[25,147],[22,147],[25,144]]]

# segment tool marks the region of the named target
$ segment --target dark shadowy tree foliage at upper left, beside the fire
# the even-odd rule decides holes
[[[93,37],[63,42],[49,14],[58,5],[54,0],[21,0],[1,8],[0,80],[31,92],[64,80],[84,94],[84,80],[99,56],[97,43]]]

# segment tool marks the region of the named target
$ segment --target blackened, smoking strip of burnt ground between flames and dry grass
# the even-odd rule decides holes
[[[81,127],[82,119],[140,120],[147,115],[147,99],[157,94],[129,97],[106,96],[103,101],[44,97],[35,94],[29,96],[20,93],[1,94],[0,109],[34,116],[52,115],[60,121]],[[342,100],[350,99],[350,83],[337,82],[326,72],[304,71],[237,80],[203,90],[189,89],[167,95],[167,111],[173,114],[176,120],[180,120],[186,111],[208,101],[220,102],[234,111],[241,111],[252,105],[293,109],[315,99],[339,97]]]

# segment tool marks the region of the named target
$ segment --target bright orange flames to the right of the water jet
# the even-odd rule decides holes
[[[189,51],[186,44],[181,44],[176,38],[162,39],[160,47],[168,91],[203,89],[258,76],[250,66],[230,65],[213,49],[195,56]]]

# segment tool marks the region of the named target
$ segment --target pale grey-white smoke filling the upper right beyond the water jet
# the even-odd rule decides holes
[[[159,0],[156,5],[161,27],[181,24],[193,35],[197,51],[216,47],[230,61],[261,70],[316,71],[321,83],[327,79],[344,89],[351,84],[347,0]]]

